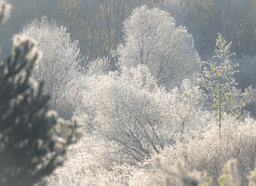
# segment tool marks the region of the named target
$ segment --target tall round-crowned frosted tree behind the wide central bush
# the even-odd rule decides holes
[[[192,35],[159,8],[143,6],[124,22],[124,44],[117,47],[119,64],[146,65],[157,84],[180,86],[198,71],[200,59]]]

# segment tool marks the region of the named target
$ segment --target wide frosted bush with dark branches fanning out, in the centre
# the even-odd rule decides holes
[[[78,117],[94,134],[115,142],[125,160],[142,161],[180,137],[198,135],[205,124],[203,98],[189,80],[167,92],[148,67],[124,67],[90,79]]]

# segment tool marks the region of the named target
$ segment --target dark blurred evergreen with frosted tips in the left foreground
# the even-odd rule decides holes
[[[8,5],[0,3],[0,22]],[[30,76],[42,54],[33,39],[14,36],[11,56],[0,63],[0,184],[33,186],[61,166],[77,140],[77,125],[48,111],[49,96]],[[62,139],[55,132],[61,132]],[[74,138],[76,137],[76,138]]]

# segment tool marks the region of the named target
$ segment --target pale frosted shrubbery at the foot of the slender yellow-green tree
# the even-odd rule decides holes
[[[192,171],[207,171],[212,184],[217,185],[222,175],[222,167],[231,158],[237,160],[237,177],[240,185],[248,185],[249,171],[255,168],[255,121],[251,118],[238,122],[226,118],[222,122],[222,139],[218,138],[218,126],[212,127],[203,140],[190,140],[166,148],[163,156],[168,164],[182,158],[186,167]]]

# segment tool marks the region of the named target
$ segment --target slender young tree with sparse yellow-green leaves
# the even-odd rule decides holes
[[[235,117],[240,113],[240,109],[244,107],[249,100],[244,99],[244,94],[237,89],[237,83],[233,76],[235,71],[233,68],[238,64],[233,64],[230,57],[234,55],[229,48],[230,44],[226,44],[221,33],[216,40],[217,49],[213,59],[216,62],[205,62],[207,65],[203,71],[203,78],[200,80],[201,86],[209,90],[209,108],[216,112],[217,122],[219,123],[220,137],[222,127],[223,113],[231,113]]]

